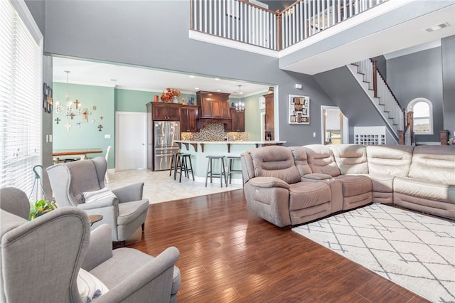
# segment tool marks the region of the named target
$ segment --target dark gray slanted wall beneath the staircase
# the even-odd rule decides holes
[[[353,127],[386,126],[384,119],[370,101],[365,91],[346,66],[314,75],[333,103],[349,119],[349,142],[353,143]],[[387,130],[390,132],[390,129]],[[392,137],[387,137],[392,143]]]

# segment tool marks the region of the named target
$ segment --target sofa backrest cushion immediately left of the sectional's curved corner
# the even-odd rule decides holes
[[[341,174],[331,149],[322,144],[305,145],[304,148],[313,173],[328,174],[333,177]]]

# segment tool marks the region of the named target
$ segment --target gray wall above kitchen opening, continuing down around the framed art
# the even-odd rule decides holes
[[[189,39],[189,1],[48,1],[45,9],[46,53],[279,85],[279,139],[320,142],[320,105],[333,102],[316,81],[279,70],[277,58]],[[310,125],[287,124],[289,94],[310,97]]]

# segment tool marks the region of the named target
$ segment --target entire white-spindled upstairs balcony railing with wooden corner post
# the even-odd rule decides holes
[[[299,0],[270,11],[245,0],[190,0],[191,29],[282,50],[387,0]]]

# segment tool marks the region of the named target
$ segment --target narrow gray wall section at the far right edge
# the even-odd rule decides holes
[[[441,39],[444,126],[455,137],[455,36]]]

